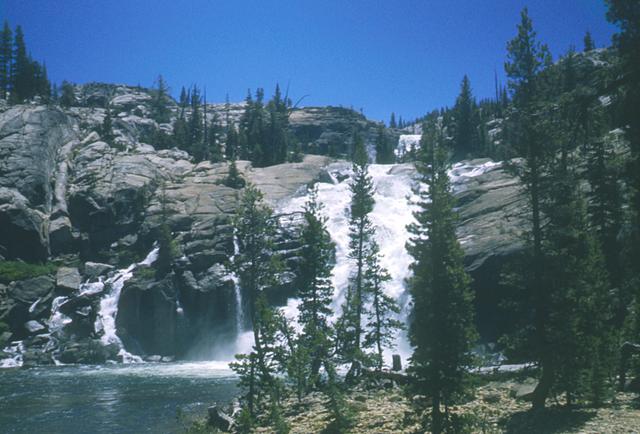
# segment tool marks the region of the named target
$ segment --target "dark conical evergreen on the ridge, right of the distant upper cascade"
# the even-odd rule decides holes
[[[455,134],[453,139],[454,158],[463,159],[477,151],[478,135],[475,122],[475,99],[471,94],[471,84],[465,75],[460,86],[460,95],[453,109]]]

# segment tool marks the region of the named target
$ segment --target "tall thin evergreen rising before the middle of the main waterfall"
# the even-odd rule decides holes
[[[355,262],[355,272],[349,279],[342,316],[338,321],[338,348],[346,363],[351,367],[347,380],[359,376],[362,364],[366,362],[362,351],[364,335],[362,317],[366,314],[368,298],[366,287],[366,261],[371,253],[374,228],[369,218],[373,210],[373,181],[368,174],[368,156],[362,140],[356,141],[353,157],[353,181],[349,219],[349,259]]]

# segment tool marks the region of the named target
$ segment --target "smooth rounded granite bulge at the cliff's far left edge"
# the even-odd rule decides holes
[[[59,109],[15,106],[0,113],[0,255],[29,261],[49,255],[57,161],[75,136]]]

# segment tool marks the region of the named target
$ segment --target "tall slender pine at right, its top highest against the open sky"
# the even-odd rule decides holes
[[[549,293],[544,286],[544,257],[542,250],[541,202],[545,160],[548,157],[546,140],[536,125],[537,76],[549,63],[546,46],[536,41],[527,9],[523,9],[518,35],[507,44],[508,62],[505,70],[513,92],[514,110],[510,113],[512,144],[525,160],[519,176],[526,188],[531,209],[531,279],[529,291],[533,294],[535,340],[533,352],[539,361],[542,376],[533,394],[534,408],[543,408],[554,378],[554,366],[548,348],[547,316]]]

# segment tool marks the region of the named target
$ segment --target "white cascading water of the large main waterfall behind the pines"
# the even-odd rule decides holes
[[[500,164],[484,160],[454,165],[449,172],[453,190],[461,191],[466,180],[482,175]],[[327,229],[336,244],[336,264],[332,276],[334,286],[332,308],[335,320],[341,311],[349,276],[354,267],[353,261],[347,256],[349,251],[349,206],[351,202],[349,185],[351,180],[348,178],[338,182],[337,178],[338,175],[344,177],[351,175],[352,172],[349,163],[335,163],[327,170],[334,182],[332,184],[319,183],[317,187],[318,201],[323,205],[322,214],[327,218]],[[391,276],[384,291],[397,300],[401,308],[399,319],[407,324],[411,300],[406,291],[406,281],[410,277],[409,266],[413,258],[407,252],[406,244],[410,239],[407,226],[414,222],[414,203],[418,199],[413,192],[413,188],[417,186],[415,169],[411,164],[372,164],[369,166],[369,175],[375,189],[375,206],[370,217],[376,228],[376,241],[380,245],[381,265],[387,269]],[[307,199],[307,195],[291,198],[281,204],[278,212],[301,211]],[[288,319],[293,320],[297,317],[297,304],[297,300],[289,300],[287,306],[283,308]],[[398,334],[396,344],[397,348],[393,352],[400,353],[406,359],[412,352],[406,331]],[[391,354],[392,351],[385,353],[387,363],[391,359]]]

